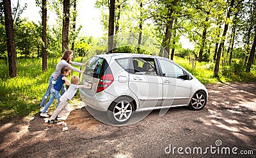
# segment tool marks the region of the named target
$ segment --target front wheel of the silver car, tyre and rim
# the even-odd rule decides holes
[[[201,110],[205,107],[207,96],[204,91],[196,91],[189,102],[189,109]]]

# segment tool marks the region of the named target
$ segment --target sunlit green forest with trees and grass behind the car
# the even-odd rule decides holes
[[[84,26],[76,24],[79,0],[35,2],[40,9],[31,14],[40,14],[40,22],[22,18],[27,4],[0,0],[0,119],[38,112],[66,49],[74,50],[79,62],[113,52],[163,56],[202,83],[256,81],[256,0],[97,0],[102,26],[97,37],[84,35]],[[51,13],[56,18],[48,25]],[[118,36],[135,40],[125,45]],[[182,48],[182,37],[193,49]],[[143,49],[152,45],[152,51]]]

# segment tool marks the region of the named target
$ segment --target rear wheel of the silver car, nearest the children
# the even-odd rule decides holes
[[[115,124],[129,122],[134,112],[134,104],[129,97],[119,97],[114,100],[107,111],[109,120]]]

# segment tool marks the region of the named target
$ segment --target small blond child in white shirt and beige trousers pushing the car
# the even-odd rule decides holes
[[[79,84],[79,77],[77,75],[73,75],[71,77],[71,84],[68,90],[60,97],[60,104],[55,109],[54,113],[52,114],[51,118],[49,118],[48,123],[57,123],[56,117],[58,115],[65,115],[66,113],[70,113],[71,109],[68,104],[68,101],[71,100],[74,95],[76,94],[77,88],[89,88],[90,85],[78,85]]]

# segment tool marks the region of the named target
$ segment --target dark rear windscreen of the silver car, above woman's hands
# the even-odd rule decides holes
[[[100,79],[104,74],[111,74],[108,62],[104,58],[93,56],[88,62],[85,73],[94,78]]]

